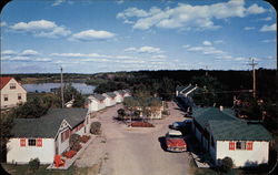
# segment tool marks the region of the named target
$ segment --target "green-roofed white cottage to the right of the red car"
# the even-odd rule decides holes
[[[271,135],[258,124],[237,119],[230,109],[193,111],[192,131],[216,165],[226,156],[237,167],[267,164]]]

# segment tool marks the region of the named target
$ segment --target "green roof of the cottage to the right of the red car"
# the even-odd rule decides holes
[[[216,141],[270,141],[271,135],[261,125],[237,119],[230,109],[216,107],[193,110],[195,121],[208,128]]]

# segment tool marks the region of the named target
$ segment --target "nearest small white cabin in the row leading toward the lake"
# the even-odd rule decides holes
[[[89,109],[89,113],[100,111],[106,107],[106,97],[101,94],[92,94],[87,97],[86,107]]]

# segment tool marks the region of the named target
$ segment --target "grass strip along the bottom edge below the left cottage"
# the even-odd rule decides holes
[[[99,173],[100,165],[93,165],[91,167],[77,167],[70,166],[66,171],[61,169],[46,169],[48,165],[41,165],[34,173],[29,171],[28,165],[10,165],[1,164],[7,173],[12,175],[97,175]]]

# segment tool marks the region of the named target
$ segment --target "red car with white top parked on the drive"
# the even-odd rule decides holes
[[[187,144],[180,131],[171,130],[166,134],[167,151],[170,152],[185,152]]]

